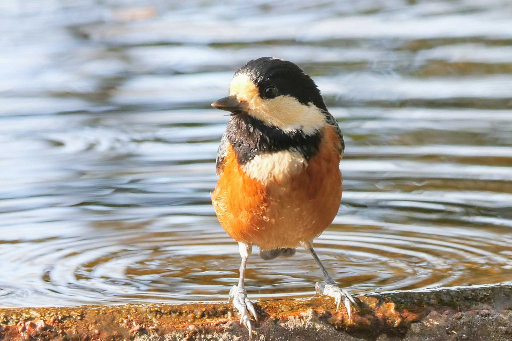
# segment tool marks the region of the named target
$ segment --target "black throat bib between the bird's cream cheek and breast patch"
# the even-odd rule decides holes
[[[234,116],[226,129],[226,136],[243,165],[261,152],[277,152],[294,149],[306,160],[318,153],[322,132],[306,135],[302,130],[285,132],[270,127],[247,114]]]

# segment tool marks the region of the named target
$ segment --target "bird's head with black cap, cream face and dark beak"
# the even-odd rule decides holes
[[[234,74],[229,96],[211,104],[231,115],[250,115],[286,132],[314,134],[325,124],[327,111],[313,80],[294,63],[262,57]]]

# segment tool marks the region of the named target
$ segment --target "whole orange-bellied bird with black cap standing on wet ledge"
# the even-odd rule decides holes
[[[211,201],[242,258],[238,285],[228,301],[252,337],[249,313],[258,322],[244,285],[252,247],[270,260],[304,247],[321,268],[316,291],[343,301],[352,321],[355,299],[339,288],[313,249],[313,239],[331,224],[342,198],[339,162],[343,134],[314,81],[293,62],[262,57],[234,73],[229,96],[211,104],[229,111],[217,151],[217,186]]]

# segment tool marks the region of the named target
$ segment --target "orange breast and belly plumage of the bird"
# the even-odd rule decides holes
[[[262,181],[240,167],[231,146],[212,203],[224,230],[262,249],[312,241],[336,216],[342,198],[336,133],[324,129],[319,152],[302,171]]]

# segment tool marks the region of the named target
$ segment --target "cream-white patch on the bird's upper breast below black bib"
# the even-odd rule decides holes
[[[271,180],[281,182],[300,174],[307,165],[308,162],[298,151],[283,150],[258,154],[241,168],[249,177],[266,185]]]

